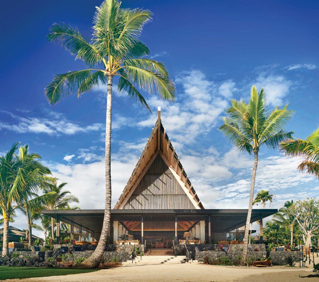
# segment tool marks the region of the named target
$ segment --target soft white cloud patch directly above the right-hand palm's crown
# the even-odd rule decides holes
[[[264,87],[267,93],[267,101],[272,106],[277,106],[284,103],[284,98],[289,94],[292,81],[282,75],[260,74],[255,84],[258,92],[261,87]]]

